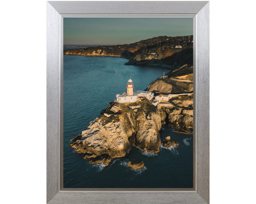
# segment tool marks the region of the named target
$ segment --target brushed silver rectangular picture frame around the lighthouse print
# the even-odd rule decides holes
[[[192,189],[63,188],[63,17],[193,17]],[[47,1],[47,203],[209,203],[209,1]]]

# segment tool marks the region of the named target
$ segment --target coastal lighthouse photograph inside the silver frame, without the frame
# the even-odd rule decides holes
[[[193,18],[63,22],[63,187],[193,188]]]

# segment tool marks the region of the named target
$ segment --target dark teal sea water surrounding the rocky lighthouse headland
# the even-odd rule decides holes
[[[64,49],[71,49],[64,47]],[[74,48],[72,48],[74,49]],[[193,135],[174,132],[167,125],[160,131],[161,140],[171,136],[178,147],[164,148],[148,154],[132,148],[128,157],[114,159],[103,167],[91,165],[84,155],[76,153],[70,139],[86,129],[90,121],[126,91],[131,76],[135,90],[167,73],[163,67],[125,66],[119,57],[85,57],[64,55],[64,188],[192,188]],[[144,170],[132,170],[128,161],[143,160]]]

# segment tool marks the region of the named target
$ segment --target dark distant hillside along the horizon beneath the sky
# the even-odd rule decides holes
[[[127,65],[158,65],[179,68],[193,63],[193,35],[158,36],[124,45],[108,45],[70,49],[64,55],[120,56],[130,59]]]

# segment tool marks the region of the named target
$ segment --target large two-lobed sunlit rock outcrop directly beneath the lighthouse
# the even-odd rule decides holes
[[[138,107],[137,112],[129,106]],[[103,114],[91,121],[86,130],[73,138],[70,146],[86,154],[85,159],[91,158],[90,155],[124,157],[132,146],[143,152],[159,152],[161,117],[158,108],[147,99],[122,104],[120,108],[115,115],[106,117]]]

